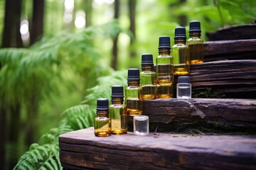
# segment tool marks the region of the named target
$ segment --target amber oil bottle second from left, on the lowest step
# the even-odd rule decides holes
[[[112,105],[110,105],[111,132],[114,135],[127,133],[127,107],[124,102],[123,86],[112,86]]]

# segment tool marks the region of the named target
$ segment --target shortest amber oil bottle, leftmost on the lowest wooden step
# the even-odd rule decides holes
[[[111,119],[109,118],[109,102],[107,98],[97,99],[97,117],[94,121],[95,136],[107,137],[111,135]]]

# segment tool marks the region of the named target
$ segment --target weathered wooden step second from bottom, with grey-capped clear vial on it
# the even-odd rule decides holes
[[[178,128],[208,128],[226,132],[256,133],[256,100],[191,98],[144,101],[151,130],[171,132]],[[153,125],[153,126],[152,126]],[[225,128],[225,129],[224,129]]]

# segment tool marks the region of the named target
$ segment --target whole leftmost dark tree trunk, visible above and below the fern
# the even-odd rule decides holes
[[[1,42],[2,47],[23,47],[20,33],[21,4],[22,0],[6,0],[5,2],[4,29]],[[0,96],[0,98],[5,98],[5,96]],[[21,106],[19,103],[11,103],[11,101],[0,100],[0,103],[0,165],[1,169],[12,169],[16,164],[16,160],[11,159],[8,162],[6,158],[6,142],[14,145],[18,143]],[[7,118],[7,115],[9,116],[9,119]],[[18,147],[15,149],[18,149]],[[18,158],[18,156],[16,156],[17,153],[16,150],[13,150],[11,157]]]

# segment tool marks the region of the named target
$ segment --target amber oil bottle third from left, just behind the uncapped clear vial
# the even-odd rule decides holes
[[[139,87],[139,69],[128,69],[128,86],[125,89],[125,103],[127,106],[127,115],[142,115],[143,103],[140,98]]]

